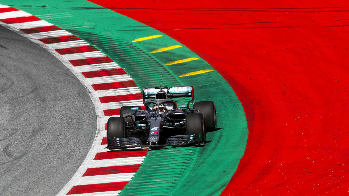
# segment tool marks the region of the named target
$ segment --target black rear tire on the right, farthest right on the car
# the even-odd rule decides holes
[[[205,116],[206,131],[215,131],[217,128],[216,105],[213,101],[198,101],[193,109],[199,110]]]

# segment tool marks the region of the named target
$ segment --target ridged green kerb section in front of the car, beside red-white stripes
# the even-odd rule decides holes
[[[192,146],[149,151],[139,175],[127,184],[122,195],[170,195],[197,153],[198,148]]]

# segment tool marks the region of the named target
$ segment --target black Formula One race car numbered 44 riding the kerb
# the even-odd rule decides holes
[[[204,144],[206,131],[216,129],[215,104],[194,103],[193,86],[160,86],[143,89],[142,94],[145,110],[140,106],[122,106],[120,117],[108,119],[106,148]],[[186,97],[191,100],[186,101]],[[177,105],[174,98],[181,98],[186,105]],[[194,104],[193,109],[189,108],[190,103]]]

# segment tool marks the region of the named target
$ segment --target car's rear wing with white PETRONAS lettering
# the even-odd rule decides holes
[[[158,86],[154,88],[143,89],[143,103],[146,99],[155,99],[155,94],[160,91],[165,92],[168,98],[192,97],[191,101],[194,103],[194,86],[175,86],[171,88],[168,88],[167,86]]]

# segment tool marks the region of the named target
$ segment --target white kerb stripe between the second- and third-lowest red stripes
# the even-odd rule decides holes
[[[118,159],[93,160],[92,166],[90,168],[141,164],[144,158],[146,157],[143,156],[143,157],[127,157],[127,158],[118,158]]]

